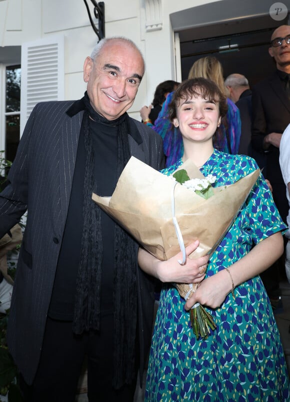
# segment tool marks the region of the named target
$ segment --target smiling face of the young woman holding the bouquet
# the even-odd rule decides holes
[[[213,134],[220,125],[218,102],[210,102],[200,95],[181,100],[176,107],[173,124],[179,127],[183,141],[212,142]]]

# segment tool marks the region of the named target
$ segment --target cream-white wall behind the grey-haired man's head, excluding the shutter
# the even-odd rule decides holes
[[[105,35],[133,40],[143,53],[146,72],[131,116],[139,119],[139,109],[152,101],[156,85],[176,79],[173,32],[169,14],[210,3],[214,0],[105,0]],[[93,7],[87,0],[91,15]],[[93,17],[94,18],[94,17]],[[146,24],[156,20],[158,30]],[[95,20],[96,21],[96,20]],[[82,67],[97,42],[81,0],[0,0],[0,46],[19,46],[55,34],[64,35],[65,99],[83,95]],[[1,62],[1,61],[0,61]]]

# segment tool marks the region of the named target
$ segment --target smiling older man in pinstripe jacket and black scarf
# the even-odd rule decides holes
[[[84,62],[84,97],[33,109],[0,194],[0,237],[28,209],[7,333],[25,401],[74,401],[84,356],[89,401],[133,400],[153,283],[91,195],[111,195],[131,155],[163,167],[158,134],[126,113],[143,74],[134,43],[101,40]]]

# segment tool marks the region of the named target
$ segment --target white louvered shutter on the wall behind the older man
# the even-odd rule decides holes
[[[64,99],[64,36],[21,47],[20,135],[38,102]]]

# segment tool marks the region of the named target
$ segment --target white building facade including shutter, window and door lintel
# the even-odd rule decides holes
[[[93,4],[86,3],[98,27]],[[192,52],[192,40],[257,30],[257,21],[269,29],[280,25],[270,16],[273,4],[272,0],[105,0],[105,36],[130,38],[145,59],[145,76],[130,115],[140,120],[138,111],[152,101],[158,83],[186,78],[181,60]],[[289,6],[285,8],[288,13]],[[15,132],[21,135],[37,102],[82,97],[83,62],[97,41],[82,0],[0,0],[0,150],[8,146],[14,152]]]

